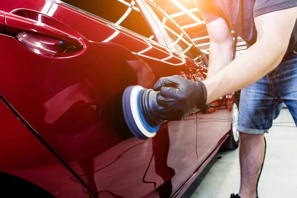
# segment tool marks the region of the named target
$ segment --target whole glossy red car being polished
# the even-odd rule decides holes
[[[224,143],[238,147],[236,94],[154,138],[129,131],[126,87],[207,73],[150,1],[1,0],[0,43],[0,197],[180,197]]]

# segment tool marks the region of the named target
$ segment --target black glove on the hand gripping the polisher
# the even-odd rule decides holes
[[[160,91],[156,100],[163,120],[181,120],[206,104],[205,85],[180,76],[160,78],[153,90]]]

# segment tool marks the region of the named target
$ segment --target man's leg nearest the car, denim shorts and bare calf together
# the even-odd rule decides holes
[[[241,91],[238,130],[240,131],[241,198],[256,197],[256,182],[264,157],[264,134],[282,107],[266,75]]]

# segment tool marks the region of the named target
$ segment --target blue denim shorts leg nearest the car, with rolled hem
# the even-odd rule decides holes
[[[282,109],[268,75],[241,91],[238,130],[248,134],[268,132]]]

